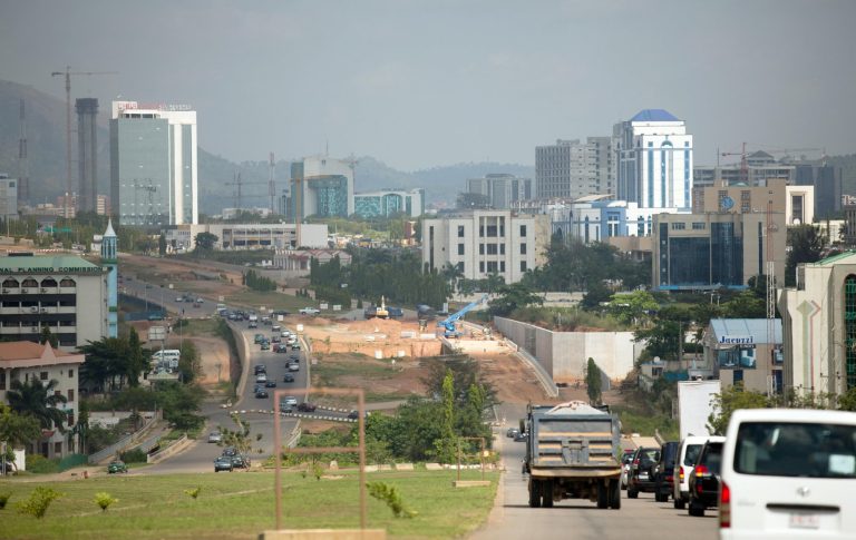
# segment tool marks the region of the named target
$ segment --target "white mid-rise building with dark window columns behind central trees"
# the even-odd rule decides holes
[[[457,266],[467,279],[499,274],[516,283],[546,261],[549,218],[509,210],[471,210],[422,220],[422,264]]]

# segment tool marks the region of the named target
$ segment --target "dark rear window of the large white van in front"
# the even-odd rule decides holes
[[[733,468],[769,477],[856,478],[856,425],[745,422]]]

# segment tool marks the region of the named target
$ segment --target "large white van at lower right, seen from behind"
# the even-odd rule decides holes
[[[856,414],[739,410],[726,439],[721,540],[856,538]]]

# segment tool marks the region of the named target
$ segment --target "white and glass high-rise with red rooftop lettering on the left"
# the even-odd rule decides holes
[[[114,101],[110,202],[121,225],[198,223],[196,111]]]

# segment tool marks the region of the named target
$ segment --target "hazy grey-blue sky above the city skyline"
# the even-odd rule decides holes
[[[854,23],[846,0],[0,0],[0,79],[65,99],[52,71],[115,71],[72,99],[192,105],[234,161],[533,165],[661,108],[713,165],[856,151]]]

